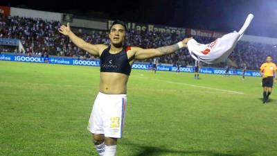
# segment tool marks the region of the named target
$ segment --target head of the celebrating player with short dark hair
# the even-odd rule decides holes
[[[114,24],[109,32],[109,39],[111,44],[115,46],[122,46],[125,38],[125,28],[121,24]]]

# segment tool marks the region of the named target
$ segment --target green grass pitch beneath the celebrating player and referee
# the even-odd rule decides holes
[[[0,155],[97,155],[99,68],[0,61]],[[277,155],[276,93],[260,78],[133,70],[118,156]],[[235,92],[231,92],[235,91]]]

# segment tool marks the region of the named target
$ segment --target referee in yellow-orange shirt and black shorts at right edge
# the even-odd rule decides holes
[[[272,92],[274,76],[276,76],[276,64],[272,62],[272,57],[267,56],[265,63],[260,67],[260,76],[262,76],[263,100],[266,104],[269,101],[269,95]]]

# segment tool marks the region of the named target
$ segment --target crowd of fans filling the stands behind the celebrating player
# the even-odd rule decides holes
[[[19,39],[24,46],[25,53],[29,55],[60,55],[77,57],[80,59],[93,59],[87,51],[83,51],[75,46],[69,37],[60,34],[57,29],[60,27],[59,21],[45,21],[26,17],[10,17],[0,15],[0,37]],[[76,35],[82,37],[91,44],[109,44],[108,32],[93,31],[91,33],[80,33],[75,30]],[[157,48],[175,44],[184,39],[185,35],[175,33],[143,32],[130,30],[127,33],[126,45],[141,46],[142,48]],[[201,43],[209,43],[215,40],[208,37],[195,37]],[[22,53],[11,46],[1,46],[2,52]],[[243,63],[248,69],[258,69],[266,55],[276,58],[276,47],[269,44],[259,44],[254,42],[238,42],[230,59],[238,67]],[[152,60],[143,60],[151,62]],[[182,49],[171,55],[159,58],[160,63],[179,64],[181,66],[194,65],[193,58],[190,57],[187,49]],[[217,66],[223,64],[217,64]]]

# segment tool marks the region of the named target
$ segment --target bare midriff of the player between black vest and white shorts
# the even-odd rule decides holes
[[[129,76],[124,73],[101,72],[100,92],[104,94],[126,94]]]

